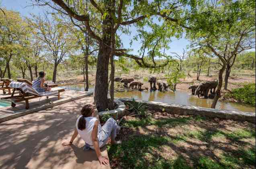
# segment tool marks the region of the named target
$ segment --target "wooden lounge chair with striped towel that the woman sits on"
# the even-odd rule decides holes
[[[12,102],[11,106],[15,107],[16,103],[20,101],[26,102],[26,109],[29,109],[29,100],[35,99],[38,97],[49,97],[56,95],[58,99],[60,99],[61,92],[65,91],[64,88],[56,87],[52,89],[52,91],[46,91],[42,93],[38,93],[35,89],[33,89],[29,84],[23,82],[11,82],[10,88],[13,88],[12,95],[9,97],[3,97],[1,99]],[[19,95],[14,95],[15,90],[20,91]]]

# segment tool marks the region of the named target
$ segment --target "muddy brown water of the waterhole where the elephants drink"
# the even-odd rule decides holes
[[[84,84],[68,85],[66,89],[84,91]],[[89,91],[93,91],[93,86],[89,87]],[[160,92],[160,91],[124,91],[116,92],[115,97],[134,97],[145,101],[159,101],[164,103],[176,103],[182,105],[195,105],[199,107],[211,107],[212,99],[203,99],[193,96],[183,90]],[[249,111],[255,112],[255,107],[251,105],[218,101],[217,109],[226,109],[230,111]]]

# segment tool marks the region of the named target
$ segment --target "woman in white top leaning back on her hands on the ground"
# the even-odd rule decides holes
[[[111,137],[111,144],[116,143],[115,137],[117,136],[117,132],[120,131],[120,127],[113,118],[109,118],[101,127],[99,120],[94,117],[94,109],[91,104],[86,104],[82,108],[81,114],[82,115],[80,115],[76,121],[75,131],[70,142],[64,142],[62,145],[71,145],[79,133],[86,143],[84,150],[89,148],[94,149],[100,165],[102,165],[102,163],[104,165],[109,164],[109,159],[101,155],[100,148],[108,143],[109,137]]]

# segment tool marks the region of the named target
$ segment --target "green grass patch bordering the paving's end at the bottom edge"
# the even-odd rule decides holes
[[[108,147],[110,159],[118,159],[121,168],[126,169],[190,169],[182,156],[166,160],[154,149],[168,145],[168,137],[141,136],[132,137],[121,145]],[[149,158],[147,158],[149,157]]]

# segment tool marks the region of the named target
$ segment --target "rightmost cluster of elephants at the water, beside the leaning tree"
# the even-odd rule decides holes
[[[204,96],[205,99],[208,97],[214,97],[215,95],[215,89],[218,86],[218,80],[214,81],[206,81],[202,82],[200,84],[193,84],[190,85],[188,89],[191,89],[191,93],[193,95],[197,95],[198,97]],[[210,95],[209,94],[210,91]]]

